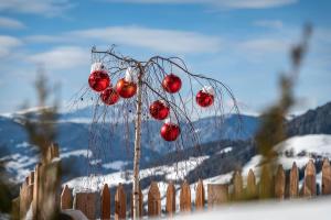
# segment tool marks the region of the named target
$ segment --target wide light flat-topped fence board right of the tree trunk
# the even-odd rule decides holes
[[[228,186],[227,184],[209,184],[207,194],[209,209],[211,209],[228,200]]]

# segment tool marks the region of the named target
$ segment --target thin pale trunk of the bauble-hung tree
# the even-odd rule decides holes
[[[141,138],[141,94],[142,94],[143,68],[139,65],[138,88],[137,88],[137,114],[135,134],[135,161],[134,161],[134,220],[139,218],[139,164],[140,164],[140,138]]]

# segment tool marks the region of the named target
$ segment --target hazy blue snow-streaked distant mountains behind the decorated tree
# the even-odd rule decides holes
[[[92,128],[93,111],[92,107],[87,107],[57,116],[56,142],[61,147],[63,166],[71,167],[71,170],[66,172],[64,180],[87,175],[88,162],[94,168],[90,172],[100,174],[117,172],[131,165],[134,144],[132,141],[126,141],[122,131],[128,129],[129,136],[134,140],[134,123],[128,125],[119,123],[109,129],[109,122],[105,122],[94,124]],[[26,111],[0,116],[0,161],[7,163],[7,169],[14,182],[22,182],[39,161],[38,151],[29,144],[29,136],[20,122],[24,113]],[[33,119],[38,116],[38,111],[33,109],[29,110],[29,113]],[[226,117],[220,127],[213,125],[215,118],[194,121],[193,124],[195,132],[200,134],[201,144],[223,139],[252,138],[258,127],[258,118],[241,117],[242,130],[238,130],[238,118],[235,114]],[[160,127],[161,123],[154,120],[147,121],[142,127],[142,166],[174,148],[173,145],[161,140]],[[90,140],[92,134],[97,135],[93,141]],[[190,147],[190,143],[186,144]],[[98,164],[102,165],[98,166]]]

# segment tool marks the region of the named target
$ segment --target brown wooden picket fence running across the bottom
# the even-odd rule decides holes
[[[56,145],[50,147],[49,160],[58,157],[58,148]],[[35,215],[35,210],[39,207],[39,183],[41,179],[42,165],[39,164],[34,172],[25,178],[20,189],[19,198],[14,199],[19,204],[20,217],[24,217],[32,204],[32,211]],[[331,166],[329,160],[323,161],[322,177],[321,177],[321,195],[331,194]],[[293,163],[292,168],[289,173],[287,180],[286,173],[281,165],[278,166],[275,175],[274,196],[276,199],[285,198],[299,198],[299,197],[314,197],[317,195],[317,183],[316,183],[316,167],[313,162],[310,160],[305,169],[305,177],[302,188],[299,189],[299,170]],[[287,183],[288,182],[288,183]],[[288,184],[288,185],[287,185]],[[244,187],[243,177],[239,172],[235,172],[233,184],[207,184],[207,199],[205,198],[205,189],[202,180],[197,182],[195,198],[191,198],[190,185],[184,182],[180,188],[180,200],[179,211],[191,212],[192,210],[212,209],[215,206],[241,201],[247,199],[258,199],[261,193],[263,186],[257,184],[254,172],[250,169],[247,176],[247,184]],[[103,190],[98,193],[76,193],[72,194],[71,189],[65,186],[57,202],[61,210],[75,209],[81,210],[88,219],[110,219],[110,209],[114,209],[115,219],[126,219],[128,213],[131,216],[132,210],[128,209],[127,196],[124,186],[118,185],[114,205],[110,204],[110,190],[107,184],[104,185]],[[161,209],[161,195],[159,186],[156,182],[152,182],[147,195],[147,211],[142,207],[142,195],[140,189],[140,216],[148,217],[160,217],[162,215]],[[168,185],[166,196],[166,215],[173,216],[177,212],[177,200],[175,200],[175,187],[173,183]],[[132,197],[130,204],[132,204]],[[193,202],[192,202],[193,200]],[[110,208],[111,207],[111,208]],[[145,212],[146,211],[146,212]]]

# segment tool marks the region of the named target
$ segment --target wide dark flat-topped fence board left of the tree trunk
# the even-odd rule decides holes
[[[81,210],[88,219],[96,219],[96,193],[77,193],[74,209]]]

